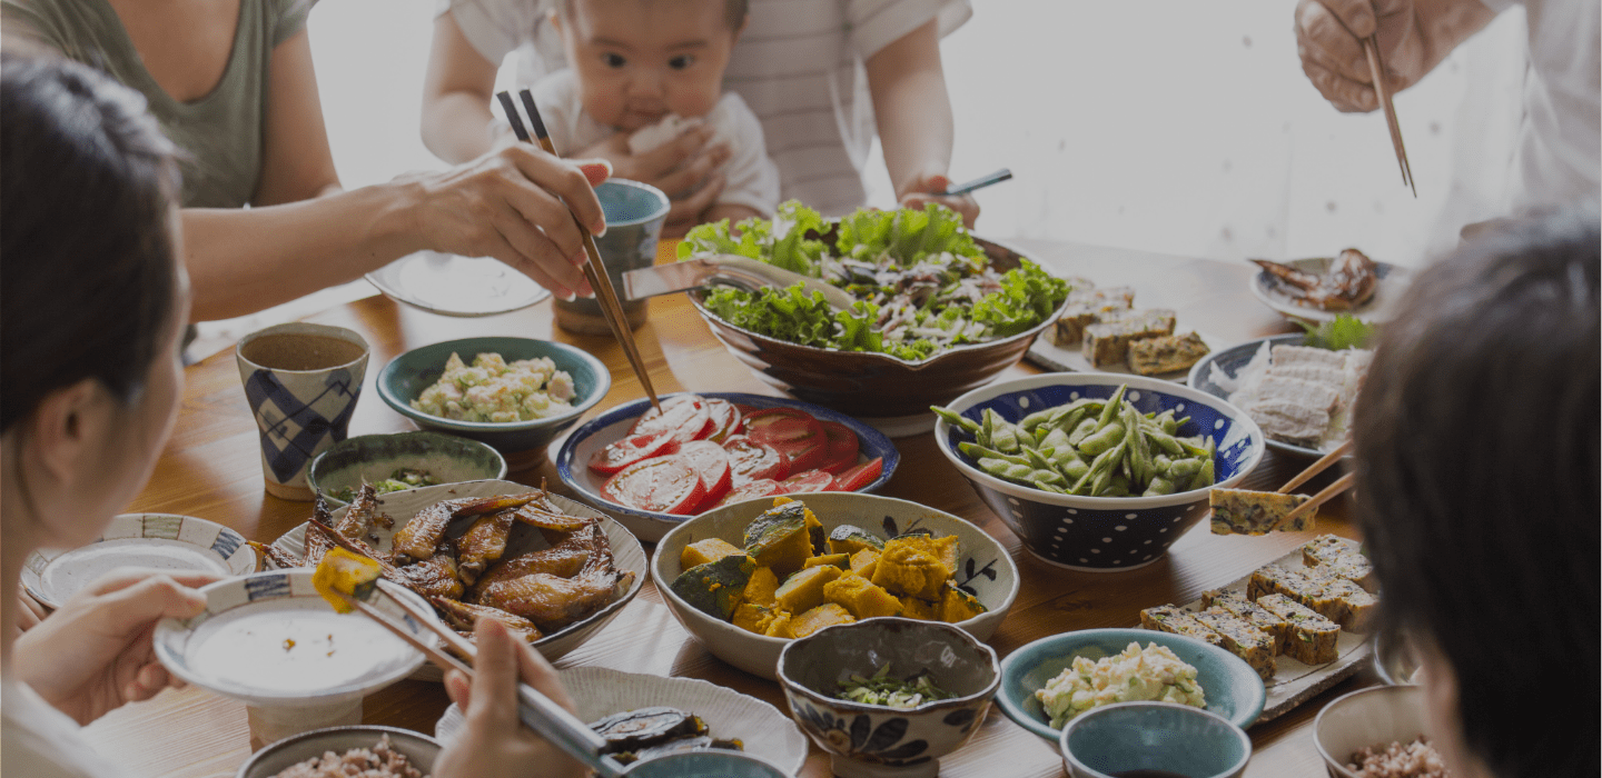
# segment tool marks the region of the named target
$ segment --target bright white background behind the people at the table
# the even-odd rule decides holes
[[[1416,266],[1496,213],[1524,77],[1522,11],[1397,96],[1418,200],[1384,118],[1341,115],[1296,59],[1290,0],[974,0],[942,43],[952,178],[1000,166],[979,232],[1174,255]],[[434,0],[320,0],[311,40],[348,187],[437,168],[418,138]],[[509,72],[503,69],[503,77]],[[883,162],[868,174],[891,202]]]

